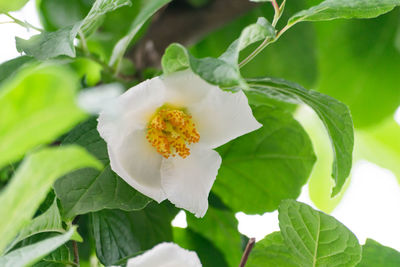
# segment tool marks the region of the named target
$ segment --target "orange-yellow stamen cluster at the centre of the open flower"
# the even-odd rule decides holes
[[[176,154],[186,158],[190,155],[188,145],[199,142],[200,135],[191,116],[182,110],[162,108],[147,126],[146,139],[164,158]]]

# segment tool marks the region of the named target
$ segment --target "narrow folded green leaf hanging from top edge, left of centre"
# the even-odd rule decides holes
[[[143,27],[143,24],[154,15],[160,8],[171,2],[171,0],[153,0],[153,1],[141,1],[141,7],[139,14],[137,14],[135,20],[132,22],[129,32],[115,45],[111,59],[110,66],[119,67],[121,60],[125,54],[126,49],[132,42],[133,38]]]

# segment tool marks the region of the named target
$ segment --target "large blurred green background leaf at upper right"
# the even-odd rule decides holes
[[[376,19],[317,25],[316,89],[347,104],[356,128],[379,123],[400,105],[399,15],[396,10]]]

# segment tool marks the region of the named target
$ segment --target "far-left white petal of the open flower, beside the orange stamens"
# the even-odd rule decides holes
[[[144,129],[164,104],[165,91],[159,77],[127,90],[100,113],[97,130],[101,137],[107,143],[120,144],[133,131]]]

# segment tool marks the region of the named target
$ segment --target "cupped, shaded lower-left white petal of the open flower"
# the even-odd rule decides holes
[[[161,188],[162,156],[147,142],[146,132],[128,135],[121,144],[108,144],[111,169],[133,188],[157,202],[166,196]]]

